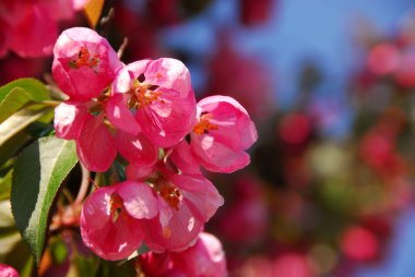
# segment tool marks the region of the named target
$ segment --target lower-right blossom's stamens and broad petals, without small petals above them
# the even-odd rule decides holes
[[[182,251],[192,245],[223,205],[215,186],[203,177],[166,174],[154,184],[158,217],[145,224],[145,244],[155,252]]]

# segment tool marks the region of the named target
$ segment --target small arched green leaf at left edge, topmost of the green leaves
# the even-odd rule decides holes
[[[4,97],[15,87],[26,91],[35,101],[50,99],[49,92],[44,83],[36,79],[27,77],[15,80],[0,87],[0,103],[3,101]]]

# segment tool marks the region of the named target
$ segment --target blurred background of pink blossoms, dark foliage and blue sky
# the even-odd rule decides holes
[[[98,26],[122,60],[175,57],[198,99],[254,120],[251,165],[210,174],[206,230],[232,276],[415,276],[412,0],[117,0]],[[85,25],[80,14],[67,25]],[[50,80],[50,58],[0,61],[1,83]]]

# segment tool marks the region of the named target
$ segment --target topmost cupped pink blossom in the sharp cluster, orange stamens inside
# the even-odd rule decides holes
[[[74,27],[64,31],[54,48],[52,75],[71,99],[97,97],[122,68],[116,51],[95,31]]]

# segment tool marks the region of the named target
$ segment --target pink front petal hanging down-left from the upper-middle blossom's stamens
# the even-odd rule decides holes
[[[127,108],[127,103],[122,94],[116,94],[109,97],[106,105],[106,115],[111,124],[127,133],[137,135],[141,131],[134,116],[132,116],[131,111]]]

